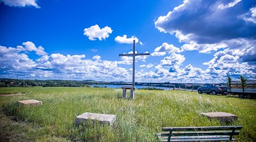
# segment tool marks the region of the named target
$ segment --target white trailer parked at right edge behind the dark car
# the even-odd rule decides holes
[[[239,95],[240,98],[252,98],[256,97],[256,80],[254,81],[246,81],[246,85],[244,89],[242,89],[240,81],[233,81],[231,82],[231,87],[229,89],[228,86],[228,93],[233,95]]]

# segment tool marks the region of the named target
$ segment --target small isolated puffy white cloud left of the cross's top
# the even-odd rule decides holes
[[[112,34],[112,29],[108,26],[100,28],[97,24],[90,26],[89,28],[84,29],[84,35],[88,36],[89,40],[102,40],[109,37],[109,34]]]

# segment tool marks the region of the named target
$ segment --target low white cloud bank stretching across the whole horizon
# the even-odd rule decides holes
[[[248,51],[249,52],[249,51]],[[131,53],[128,52],[128,53]],[[181,52],[182,53],[182,52]],[[172,53],[159,61],[159,64],[142,64],[141,70],[135,70],[138,82],[223,82],[226,75],[247,78],[256,76],[255,64],[240,62],[240,51],[225,49],[214,54],[214,58],[204,65],[203,70],[193,65],[185,65],[185,56]],[[38,59],[33,60],[30,55]],[[136,62],[143,63],[151,56],[136,56]],[[131,81],[132,69],[121,66],[131,65],[132,57],[123,56],[119,61],[109,61],[95,55],[86,59],[85,55],[48,55],[42,46],[36,47],[32,41],[26,41],[16,47],[0,46],[0,78],[21,79],[61,79],[61,80],[99,80],[99,81]],[[139,71],[138,71],[139,70]]]

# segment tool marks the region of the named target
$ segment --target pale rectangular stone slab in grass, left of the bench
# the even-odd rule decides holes
[[[92,122],[98,121],[99,124],[107,124],[109,126],[113,126],[115,122],[116,115],[112,114],[94,114],[90,112],[85,112],[76,117],[76,124],[79,125],[82,122],[87,122],[87,120],[91,120]]]

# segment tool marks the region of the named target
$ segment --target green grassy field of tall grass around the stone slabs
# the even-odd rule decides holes
[[[238,141],[256,141],[256,100],[190,91],[136,90],[134,100],[121,99],[121,89],[85,87],[2,87],[0,94],[2,141],[155,141],[162,127],[243,126]],[[23,99],[42,106],[21,106]],[[201,117],[201,112],[236,114],[229,124]],[[75,125],[84,112],[115,114],[113,127]]]

